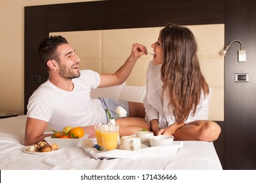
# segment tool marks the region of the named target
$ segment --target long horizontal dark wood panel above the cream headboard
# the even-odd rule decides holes
[[[51,5],[49,15],[50,31],[124,29],[157,27],[168,22],[219,24],[224,20],[224,6],[223,1],[96,1]]]

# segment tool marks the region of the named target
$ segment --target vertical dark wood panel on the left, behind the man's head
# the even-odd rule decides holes
[[[41,82],[31,82],[31,76],[41,76],[42,81],[48,75],[37,58],[37,46],[41,39],[48,36],[48,8],[25,7],[25,45],[24,45],[24,111],[27,112],[27,101]]]

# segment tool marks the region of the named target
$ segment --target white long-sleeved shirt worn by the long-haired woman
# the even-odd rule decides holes
[[[163,82],[160,78],[161,66],[162,65],[154,65],[153,61],[149,62],[146,74],[147,93],[143,103],[146,111],[145,119],[147,122],[157,119],[159,127],[164,128],[174,124],[175,118],[172,108],[168,110],[168,100],[166,99],[166,95],[162,96]],[[208,120],[210,96],[211,88],[210,93],[206,95],[206,98],[202,92],[200,102],[196,107],[196,113],[192,116],[191,111],[185,124],[195,120]]]

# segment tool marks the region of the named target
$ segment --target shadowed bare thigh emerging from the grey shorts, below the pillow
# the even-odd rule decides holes
[[[145,108],[143,103],[128,102],[129,117],[145,118]]]

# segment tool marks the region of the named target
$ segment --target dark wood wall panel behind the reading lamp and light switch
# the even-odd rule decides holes
[[[238,62],[240,44],[225,57],[225,169],[256,169],[256,1],[225,1],[225,44],[239,39],[247,61]],[[234,82],[249,73],[249,82]]]

